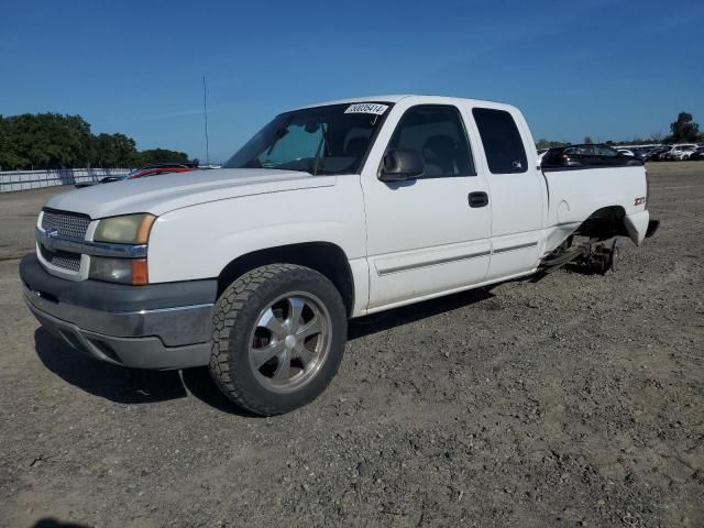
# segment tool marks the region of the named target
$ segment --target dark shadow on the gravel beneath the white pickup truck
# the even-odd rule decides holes
[[[350,322],[348,338],[360,339],[491,297],[488,289],[480,288],[363,317]],[[34,344],[40,361],[54,374],[88,394],[117,404],[154,404],[185,398],[190,393],[223,413],[254,416],[218,391],[207,367],[184,371],[124,369],[84,355],[41,327],[34,332]]]

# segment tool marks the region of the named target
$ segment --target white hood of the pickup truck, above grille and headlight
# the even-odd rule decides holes
[[[329,187],[336,176],[266,168],[217,168],[99,184],[57,195],[46,207],[91,219],[133,212],[165,212],[208,201],[264,193]]]

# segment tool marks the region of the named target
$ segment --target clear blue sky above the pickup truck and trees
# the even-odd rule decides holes
[[[374,94],[518,106],[536,140],[704,128],[704,3],[0,0],[0,113],[80,114],[223,161],[290,107]]]

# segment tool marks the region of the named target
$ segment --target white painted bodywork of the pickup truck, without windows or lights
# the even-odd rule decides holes
[[[157,216],[148,241],[153,283],[218,277],[248,253],[326,242],[340,248],[354,284],[352,316],[514,278],[536,271],[594,211],[622,207],[630,239],[648,228],[644,167],[541,173],[522,114],[472,99],[381,96],[336,102],[393,103],[361,174],[311,176],[273,169],[216,169],[125,180],[52,198],[47,207],[100,218]],[[378,179],[389,139],[404,111],[451,105],[468,132],[475,176]],[[505,110],[526,148],[528,169],[492,174],[473,108]],[[470,208],[484,191],[488,207]],[[94,222],[95,223],[95,222]],[[50,271],[51,273],[51,271]]]

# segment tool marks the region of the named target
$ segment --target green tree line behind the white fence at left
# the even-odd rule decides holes
[[[124,134],[94,134],[80,116],[0,116],[0,170],[139,167],[170,162],[188,163],[188,155],[166,148],[138,151],[134,140]]]

